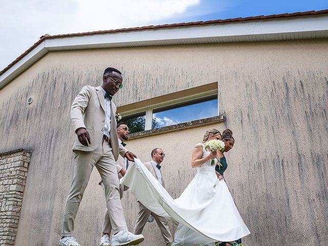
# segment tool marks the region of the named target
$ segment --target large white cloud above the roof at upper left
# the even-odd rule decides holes
[[[183,16],[199,0],[15,0],[2,4],[0,70],[40,36],[147,26]]]

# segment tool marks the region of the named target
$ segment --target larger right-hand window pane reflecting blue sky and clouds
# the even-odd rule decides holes
[[[153,110],[152,129],[218,115],[217,95]]]

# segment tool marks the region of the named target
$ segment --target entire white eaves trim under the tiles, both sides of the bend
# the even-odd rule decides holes
[[[0,89],[53,50],[316,38],[318,33],[328,37],[327,14],[49,38],[0,76]]]

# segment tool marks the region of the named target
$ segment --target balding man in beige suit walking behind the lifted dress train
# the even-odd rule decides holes
[[[154,177],[157,178],[158,182],[160,182],[161,185],[165,187],[164,179],[160,171],[161,166],[159,165],[163,161],[165,154],[162,149],[156,148],[152,150],[151,156],[152,160],[150,162],[145,162],[144,165],[151,172],[151,174],[153,174]],[[165,217],[161,217],[152,213],[149,209],[142,205],[140,201],[138,201],[138,205],[138,219],[135,223],[133,233],[142,233],[142,230],[144,230],[148,217],[150,216],[150,214],[152,214],[158,224],[159,230],[163,236],[166,245],[171,245],[173,242],[173,238],[168,225],[168,220]]]

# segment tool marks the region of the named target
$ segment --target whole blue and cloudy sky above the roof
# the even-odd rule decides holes
[[[40,36],[328,9],[327,0],[0,0],[0,71]]]

